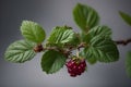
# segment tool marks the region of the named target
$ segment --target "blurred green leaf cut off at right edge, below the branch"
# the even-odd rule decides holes
[[[131,51],[129,51],[126,59],[126,71],[129,77],[131,77]]]

